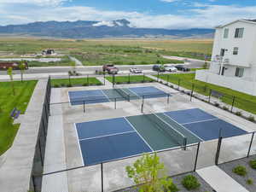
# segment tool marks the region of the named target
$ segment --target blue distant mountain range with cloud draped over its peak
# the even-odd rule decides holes
[[[170,30],[137,28],[129,20],[46,21],[24,25],[0,26],[0,35],[53,38],[213,38],[213,29]]]

